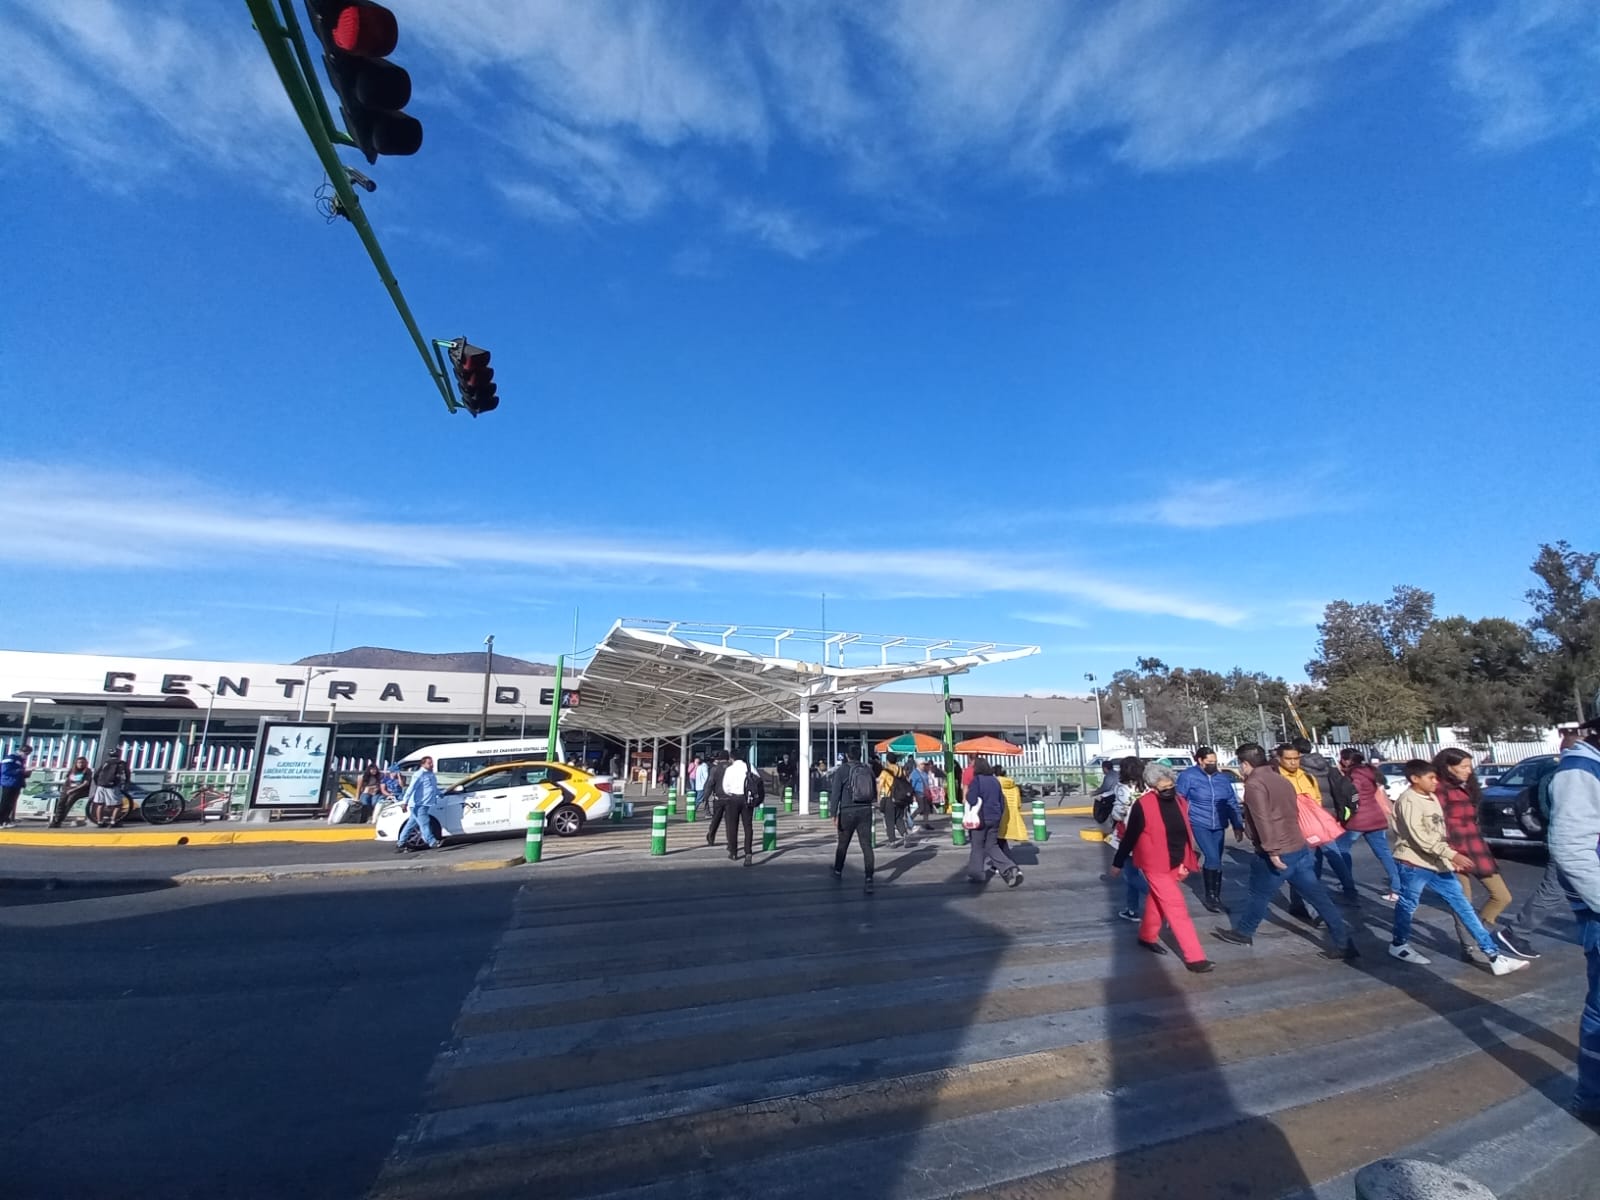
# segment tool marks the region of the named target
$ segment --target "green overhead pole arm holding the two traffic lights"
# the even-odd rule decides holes
[[[429,379],[434,381],[438,394],[445,398],[445,406],[454,413],[459,402],[450,387],[450,373],[443,370],[442,363],[435,368],[434,358],[437,352],[429,354],[429,342],[411,315],[411,306],[405,302],[400,282],[389,269],[389,259],[384,258],[382,246],[378,245],[378,235],[373,234],[373,227],[366,222],[362,202],[357,198],[355,189],[350,187],[350,179],[344,173],[344,163],[339,162],[339,155],[334,150],[334,144],[355,146],[355,141],[333,125],[333,115],[328,112],[328,104],[322,96],[312,58],[306,50],[306,38],[294,16],[293,0],[278,0],[277,11],[274,11],[272,0],[245,0],[245,6],[250,10],[256,32],[267,48],[272,67],[278,72],[278,82],[283,85],[290,104],[294,106],[294,115],[299,117],[301,125],[306,128],[306,136],[310,138],[312,149],[317,150],[317,157],[322,160],[322,170],[328,174],[328,184],[333,187],[334,195],[339,197],[344,216],[355,226],[357,237],[362,238],[366,254],[373,259],[373,266],[378,267],[378,278],[382,280],[384,288],[389,291],[389,299],[394,301],[395,310],[400,314],[406,333],[411,334],[411,342],[416,346],[418,354],[422,355],[422,365],[427,368]]]

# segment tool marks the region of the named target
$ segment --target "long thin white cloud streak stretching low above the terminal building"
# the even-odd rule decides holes
[[[813,546],[688,546],[661,538],[589,538],[573,531],[509,530],[482,525],[405,523],[296,509],[275,498],[251,501],[208,491],[146,490],[130,483],[102,498],[91,477],[64,467],[13,464],[0,478],[0,522],[18,531],[0,542],[0,562],[61,568],[138,566],[141,570],[270,560],[376,563],[394,568],[453,570],[538,566],[592,584],[640,571],[698,573],[765,586],[803,579],[826,589],[834,581],[926,595],[1032,595],[1099,608],[1235,624],[1245,613],[1182,589],[1146,587],[1086,570],[1053,555],[843,550]],[[38,496],[50,494],[53,522],[38,528]]]

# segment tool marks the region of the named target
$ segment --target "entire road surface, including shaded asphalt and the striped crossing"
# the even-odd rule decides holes
[[[744,867],[683,826],[664,859],[0,891],[0,1190],[1347,1200],[1410,1150],[1546,1200],[1600,1168],[1558,1104],[1570,926],[1493,979],[1426,909],[1434,966],[1395,963],[1358,850],[1362,963],[1282,917],[1222,946],[1195,904],[1192,976],[1056,834],[1016,891],[947,835],[880,848],[864,896],[814,834]]]

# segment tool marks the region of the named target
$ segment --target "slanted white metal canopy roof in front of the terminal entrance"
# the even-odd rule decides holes
[[[1038,646],[622,619],[582,672],[565,723],[614,738],[678,738],[723,720],[798,718],[802,702],[901,680],[965,675]]]

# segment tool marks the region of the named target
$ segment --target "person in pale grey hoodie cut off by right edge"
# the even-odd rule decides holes
[[[1600,717],[1579,728],[1584,739],[1562,755],[1550,778],[1546,842],[1566,883],[1589,966],[1571,1107],[1584,1122],[1600,1125]]]

